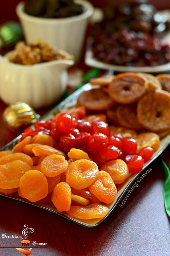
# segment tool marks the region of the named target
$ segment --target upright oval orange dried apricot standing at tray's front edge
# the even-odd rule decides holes
[[[53,190],[51,200],[59,212],[68,211],[71,205],[71,188],[66,182],[60,182]]]

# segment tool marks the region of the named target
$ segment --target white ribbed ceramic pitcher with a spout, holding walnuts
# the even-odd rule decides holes
[[[64,52],[64,51],[63,51]],[[64,52],[66,55],[70,54]],[[20,65],[7,56],[0,58],[0,98],[6,104],[26,102],[33,108],[49,106],[63,95],[67,84],[67,68],[73,60]]]

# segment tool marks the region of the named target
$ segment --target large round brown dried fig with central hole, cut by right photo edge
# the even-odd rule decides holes
[[[152,132],[170,129],[170,93],[155,90],[146,94],[138,102],[137,117]]]

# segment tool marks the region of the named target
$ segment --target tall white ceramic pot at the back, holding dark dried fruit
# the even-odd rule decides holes
[[[90,2],[85,0],[76,0],[75,2],[82,4],[85,12],[68,18],[31,16],[23,11],[24,2],[20,2],[16,7],[16,13],[20,19],[26,42],[31,43],[37,39],[47,40],[51,45],[74,55],[75,62],[78,62],[82,53],[88,21],[94,8]]]

